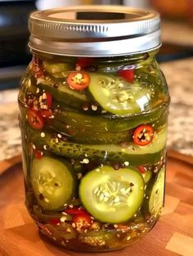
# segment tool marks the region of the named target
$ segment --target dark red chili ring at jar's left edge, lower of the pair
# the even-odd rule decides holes
[[[28,111],[29,125],[35,130],[41,130],[44,125],[43,117],[36,110]]]

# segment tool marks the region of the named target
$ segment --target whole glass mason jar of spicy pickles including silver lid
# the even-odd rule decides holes
[[[68,7],[34,12],[29,29],[19,93],[29,213],[58,245],[121,249],[154,227],[164,202],[159,15]]]

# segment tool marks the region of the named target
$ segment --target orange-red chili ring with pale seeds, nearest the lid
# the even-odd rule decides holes
[[[74,71],[68,74],[66,81],[71,89],[82,91],[88,87],[91,79],[86,72]]]

